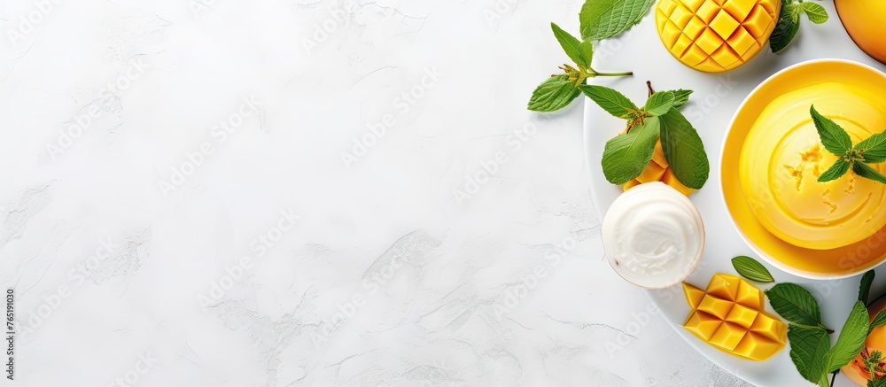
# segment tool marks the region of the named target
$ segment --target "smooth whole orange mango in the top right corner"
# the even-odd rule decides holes
[[[886,1],[834,0],[843,27],[859,48],[871,58],[886,63]]]

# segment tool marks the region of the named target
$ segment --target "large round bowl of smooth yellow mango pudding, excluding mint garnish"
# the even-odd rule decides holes
[[[886,259],[886,184],[851,168],[819,181],[841,157],[822,143],[812,106],[857,144],[886,130],[886,74],[820,59],[761,83],[729,125],[721,193],[739,234],[773,266],[812,279],[856,275]],[[867,166],[886,173],[886,163]]]

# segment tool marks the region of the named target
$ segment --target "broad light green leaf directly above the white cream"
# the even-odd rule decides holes
[[[624,184],[639,176],[652,159],[658,138],[658,118],[647,117],[624,135],[616,135],[603,149],[603,175],[613,184]]]

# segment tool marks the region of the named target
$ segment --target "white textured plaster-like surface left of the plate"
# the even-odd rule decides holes
[[[580,5],[0,3],[0,384],[742,384],[602,260],[581,104],[525,110]]]

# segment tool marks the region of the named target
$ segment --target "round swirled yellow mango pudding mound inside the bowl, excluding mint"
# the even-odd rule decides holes
[[[851,171],[818,182],[837,157],[824,149],[809,107],[859,143],[886,128],[882,97],[839,83],[820,83],[773,99],[742,146],[739,175],[747,205],[773,236],[799,247],[830,250],[857,243],[886,225],[886,185]],[[886,173],[886,165],[871,165]]]

